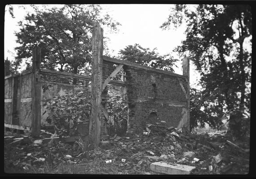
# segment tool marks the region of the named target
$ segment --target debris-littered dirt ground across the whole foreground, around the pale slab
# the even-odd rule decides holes
[[[196,166],[191,175],[249,172],[249,143],[225,132],[191,134],[185,128],[148,126],[149,135],[110,136],[97,149],[81,141],[42,143],[30,134],[4,134],[5,173],[162,175],[150,164]],[[28,136],[28,137],[26,137]],[[42,131],[40,138],[54,135]],[[18,139],[17,139],[18,138]]]

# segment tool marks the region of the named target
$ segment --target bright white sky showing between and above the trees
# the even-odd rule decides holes
[[[179,59],[172,50],[177,47],[181,40],[185,39],[185,26],[177,30],[162,30],[159,27],[167,20],[172,4],[102,4],[104,11],[110,14],[113,19],[121,23],[119,32],[111,34],[104,31],[104,35],[110,38],[108,47],[113,55],[117,55],[120,49],[128,45],[138,43],[144,48],[157,48],[160,55],[171,53],[175,59]],[[19,31],[18,21],[24,19],[26,10],[13,5],[13,19],[7,12],[4,22],[4,59],[8,57],[13,60],[15,56],[14,47],[18,44],[15,42],[15,31]],[[177,62],[178,68],[175,72],[182,74],[181,59]],[[190,61],[190,85],[194,86],[199,79],[199,74]]]

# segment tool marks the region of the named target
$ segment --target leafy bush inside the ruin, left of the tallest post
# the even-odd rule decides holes
[[[54,96],[48,103],[47,122],[54,124],[62,136],[77,134],[77,123],[90,118],[90,93],[88,89],[71,95]]]

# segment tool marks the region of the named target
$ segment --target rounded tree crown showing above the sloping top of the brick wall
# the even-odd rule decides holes
[[[128,45],[124,50],[119,51],[119,58],[148,67],[174,72],[172,67],[177,59],[173,59],[170,54],[159,55],[156,50],[156,48],[153,50],[143,48],[139,44]]]

